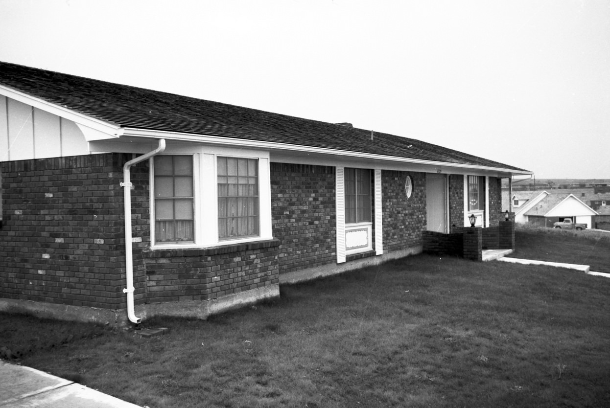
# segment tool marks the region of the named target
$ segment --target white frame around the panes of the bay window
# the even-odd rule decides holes
[[[150,159],[150,226],[151,249],[188,249],[210,248],[214,246],[232,245],[236,243],[270,240],[271,231],[271,179],[269,168],[269,152],[232,149],[209,148],[197,145],[168,146],[163,155],[193,156],[193,189],[194,189],[194,229],[193,243],[156,243],[154,219],[154,157]],[[257,159],[259,165],[259,235],[235,239],[220,239],[218,237],[218,169],[217,157],[237,157]]]

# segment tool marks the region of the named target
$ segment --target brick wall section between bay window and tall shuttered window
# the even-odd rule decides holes
[[[336,262],[335,168],[271,163],[271,219],[279,271]]]

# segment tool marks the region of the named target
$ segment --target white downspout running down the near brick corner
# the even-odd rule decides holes
[[[125,273],[127,280],[127,288],[123,289],[123,293],[127,293],[127,317],[132,323],[140,323],[140,318],[134,313],[134,256],[131,245],[131,174],[129,170],[131,166],[150,159],[156,154],[162,153],[165,150],[165,139],[159,139],[159,147],[143,156],[136,157],[133,160],[125,163],[123,166],[123,195],[125,202]]]

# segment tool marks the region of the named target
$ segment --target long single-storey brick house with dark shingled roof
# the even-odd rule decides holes
[[[482,229],[468,234],[493,246],[501,179],[531,174],[350,124],[10,63],[0,95],[0,309],[206,317],[284,282],[417,254],[427,232],[459,234],[469,215]]]

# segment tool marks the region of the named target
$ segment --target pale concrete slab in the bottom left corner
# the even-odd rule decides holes
[[[92,388],[0,360],[0,407],[138,408]]]

